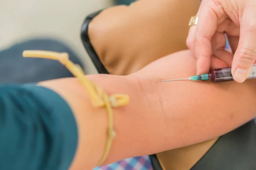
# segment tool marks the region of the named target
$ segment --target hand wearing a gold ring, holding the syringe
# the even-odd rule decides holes
[[[202,0],[187,46],[197,58],[197,74],[209,68],[231,67],[236,82],[244,82],[256,60],[256,1]],[[224,50],[227,34],[233,54]]]

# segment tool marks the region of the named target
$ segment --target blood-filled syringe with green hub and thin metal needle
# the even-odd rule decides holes
[[[231,74],[231,67],[212,69],[209,74],[195,75],[185,79],[189,79],[193,81],[212,80],[212,82],[227,82],[227,81],[234,80]],[[161,82],[169,82],[169,81],[177,81],[177,80],[185,80],[185,79],[161,80]],[[256,64],[253,64],[253,67],[250,70],[247,79],[256,79]]]

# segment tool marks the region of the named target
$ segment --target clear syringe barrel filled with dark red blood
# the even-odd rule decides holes
[[[210,74],[212,82],[227,82],[233,81],[233,76],[231,74],[231,67],[227,68],[218,68],[212,69]],[[256,78],[256,64],[253,64],[252,69],[250,70],[247,79],[255,79]]]

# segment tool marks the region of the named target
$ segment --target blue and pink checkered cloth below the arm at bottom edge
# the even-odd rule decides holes
[[[148,156],[139,156],[96,167],[93,170],[153,170],[153,168]]]

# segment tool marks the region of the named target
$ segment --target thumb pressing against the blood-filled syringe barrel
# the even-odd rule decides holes
[[[253,11],[250,11],[254,13]],[[238,48],[232,62],[232,75],[236,82],[244,82],[256,60],[256,22],[252,15],[244,16],[241,23]]]

